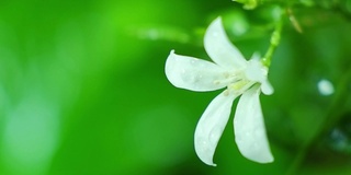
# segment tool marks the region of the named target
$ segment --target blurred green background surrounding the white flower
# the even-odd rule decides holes
[[[264,54],[279,8],[230,0],[1,1],[0,174],[351,174],[351,1],[298,1],[285,20],[261,95],[275,162],[246,160],[233,115],[214,161],[193,149],[196,122],[218,92],[173,88],[171,49],[208,59],[202,39],[222,15],[249,58]],[[333,85],[326,95],[321,80]],[[235,106],[234,106],[235,109]]]

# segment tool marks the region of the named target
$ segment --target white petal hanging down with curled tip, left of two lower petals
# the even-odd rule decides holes
[[[195,130],[195,151],[204,163],[215,166],[213,155],[218,140],[223,133],[236,96],[226,94],[217,95],[201,116]]]

